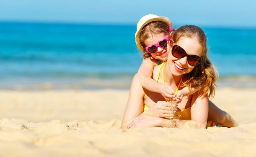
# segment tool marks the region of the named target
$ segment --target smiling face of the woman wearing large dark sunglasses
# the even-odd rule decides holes
[[[182,47],[188,55],[197,55],[200,57],[203,55],[202,46],[198,43],[198,39],[196,37],[181,37],[177,43],[174,43],[174,45],[175,44]],[[187,74],[194,69],[195,66],[189,65],[187,56],[179,59],[174,57],[171,51],[169,52],[167,64],[173,75],[180,76]]]

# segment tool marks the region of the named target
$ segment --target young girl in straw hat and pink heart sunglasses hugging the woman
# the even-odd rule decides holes
[[[137,24],[135,41],[137,47],[143,51],[143,62],[138,70],[138,75],[143,88],[160,93],[163,97],[177,100],[177,103],[180,103],[184,96],[195,93],[198,88],[186,87],[175,92],[170,86],[156,83],[151,79],[154,66],[167,60],[167,49],[172,46],[172,35],[170,35],[172,30],[172,21],[167,17],[148,14],[140,19]],[[180,69],[182,68],[180,67]]]

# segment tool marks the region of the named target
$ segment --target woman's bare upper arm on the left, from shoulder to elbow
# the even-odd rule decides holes
[[[126,129],[129,123],[142,113],[144,104],[144,91],[140,86],[138,74],[134,75],[131,83],[128,102],[122,120],[122,128]]]

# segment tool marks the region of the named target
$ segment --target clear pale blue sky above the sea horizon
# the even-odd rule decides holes
[[[256,27],[256,0],[0,0],[0,21],[133,25],[146,14],[174,25]]]

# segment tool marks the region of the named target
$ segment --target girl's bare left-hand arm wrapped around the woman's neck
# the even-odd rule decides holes
[[[151,78],[154,66],[156,65],[157,64],[154,63],[153,59],[151,58],[146,58],[143,60],[138,70],[140,85],[148,91],[160,93],[164,97],[174,98],[174,91],[170,86],[165,86],[162,83],[157,83],[155,80]]]

